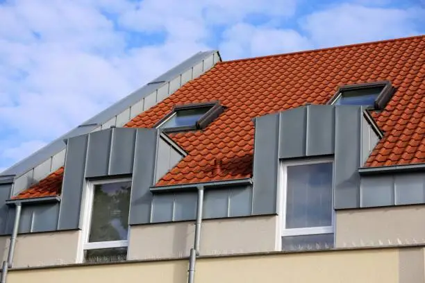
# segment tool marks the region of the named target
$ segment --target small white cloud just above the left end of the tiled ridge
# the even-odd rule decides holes
[[[309,49],[306,37],[291,29],[236,24],[224,32],[220,51],[224,58],[287,53]]]

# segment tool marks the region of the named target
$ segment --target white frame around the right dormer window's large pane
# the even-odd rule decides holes
[[[287,229],[286,226],[286,205],[287,205],[287,194],[288,194],[288,167],[297,166],[297,165],[309,165],[309,164],[319,164],[319,163],[331,163],[332,164],[332,188],[333,188],[333,179],[335,172],[335,163],[333,159],[315,159],[315,160],[301,160],[297,162],[281,162],[280,178],[281,178],[281,194],[282,194],[282,203],[281,203],[281,237],[288,236],[306,236],[306,235],[316,235],[316,234],[334,234],[335,238],[335,209],[333,209],[333,190],[332,190],[332,222],[331,226],[322,226],[322,227],[309,227],[309,228],[290,228]],[[335,239],[334,239],[335,240]]]

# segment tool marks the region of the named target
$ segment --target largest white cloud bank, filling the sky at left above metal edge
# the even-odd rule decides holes
[[[125,1],[106,0],[92,0],[90,5],[36,0],[0,5],[0,166],[19,161],[193,53],[208,49],[178,37],[128,45],[123,31],[102,11],[119,13],[131,7]]]

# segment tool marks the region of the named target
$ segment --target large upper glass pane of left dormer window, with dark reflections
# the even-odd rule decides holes
[[[131,182],[94,186],[89,242],[126,240]]]

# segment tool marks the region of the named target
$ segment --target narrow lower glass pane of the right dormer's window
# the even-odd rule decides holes
[[[282,237],[282,250],[325,250],[333,248],[333,234]]]

